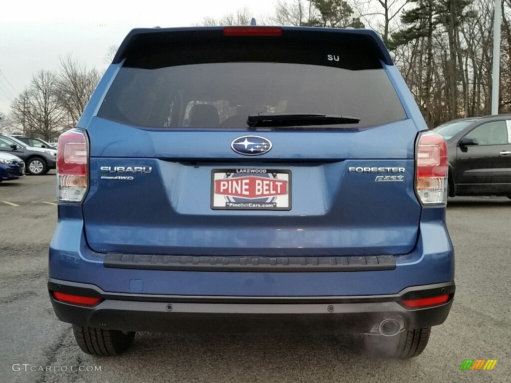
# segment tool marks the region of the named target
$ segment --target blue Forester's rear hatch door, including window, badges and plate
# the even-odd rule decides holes
[[[373,37],[161,30],[128,36],[120,51],[84,126],[92,249],[291,257],[413,249],[417,129]],[[297,113],[358,122],[274,118]],[[249,126],[249,115],[268,121]]]

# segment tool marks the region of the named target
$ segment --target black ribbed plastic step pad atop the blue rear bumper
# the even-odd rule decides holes
[[[347,257],[221,257],[107,253],[103,266],[118,269],[323,272],[376,271],[396,269],[392,255]]]

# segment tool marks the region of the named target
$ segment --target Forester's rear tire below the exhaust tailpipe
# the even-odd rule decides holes
[[[420,355],[426,348],[431,327],[404,330],[392,336],[367,335],[368,351],[378,356],[395,359],[409,359]]]

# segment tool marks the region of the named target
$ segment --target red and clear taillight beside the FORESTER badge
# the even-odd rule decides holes
[[[422,205],[447,204],[447,143],[435,132],[420,133],[415,151],[415,191]]]

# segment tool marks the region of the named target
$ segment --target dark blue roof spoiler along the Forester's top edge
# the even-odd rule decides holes
[[[188,27],[188,28],[137,28],[128,33],[119,46],[112,63],[117,64],[135,54],[142,47],[152,45],[164,45],[171,41],[207,40],[212,38],[228,38],[224,29],[232,27]],[[293,39],[331,39],[339,41],[340,44],[363,51],[364,54],[373,56],[387,65],[393,65],[385,44],[380,36],[369,29],[338,29],[338,28],[317,28],[317,27],[236,27],[251,29],[280,28],[282,33],[278,36]],[[255,34],[253,34],[255,35]],[[264,35],[264,34],[262,34]],[[232,37],[230,37],[232,38]],[[274,38],[279,38],[275,36]]]

